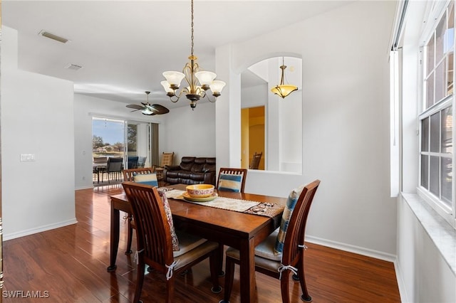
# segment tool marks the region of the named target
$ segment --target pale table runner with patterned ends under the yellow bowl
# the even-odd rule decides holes
[[[207,202],[194,202],[187,201],[182,196],[182,193],[185,191],[180,191],[178,189],[172,188],[160,188],[162,191],[165,191],[167,198],[183,200],[188,203],[195,203],[202,206],[210,206],[214,208],[222,208],[228,211],[237,211],[239,213],[252,213],[254,215],[266,216],[266,217],[275,217],[282,211],[284,211],[284,206],[278,205],[276,203],[261,203],[257,201],[247,201],[235,198],[220,197],[214,198],[212,201]]]

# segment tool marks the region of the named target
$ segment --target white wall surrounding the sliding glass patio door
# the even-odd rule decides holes
[[[74,95],[74,153],[75,153],[75,188],[90,188],[92,181],[92,117],[110,117],[115,119],[130,119],[140,122],[159,123],[159,145],[163,140],[163,120],[166,115],[147,117],[140,112],[130,112],[123,102]],[[167,114],[168,115],[168,114]],[[161,151],[160,151],[161,153]]]

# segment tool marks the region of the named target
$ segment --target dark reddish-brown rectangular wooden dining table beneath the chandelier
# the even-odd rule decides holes
[[[184,184],[175,184],[175,189],[185,190]],[[218,195],[261,203],[285,206],[286,198],[252,193],[218,191]],[[274,217],[228,211],[180,199],[168,199],[176,228],[223,245],[237,248],[240,252],[241,302],[257,302],[254,249],[280,225],[281,213]],[[283,208],[282,208],[283,210]],[[131,213],[125,193],[111,196],[110,265],[108,272],[115,270],[118,253],[120,211]]]

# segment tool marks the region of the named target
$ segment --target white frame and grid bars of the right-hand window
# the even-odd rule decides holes
[[[432,4],[433,7],[432,7],[432,13],[430,14],[430,18],[428,19],[429,22],[427,22],[427,28],[425,28],[425,31],[423,32],[423,38],[420,40],[420,41],[423,41],[423,44],[421,45],[421,47],[423,48],[423,52],[421,52],[421,60],[420,60],[420,90],[422,92],[422,95],[420,98],[418,98],[418,184],[417,184],[417,193],[418,195],[423,198],[427,204],[429,204],[435,211],[437,211],[437,213],[439,213],[440,216],[442,216],[442,218],[444,218],[448,223],[450,223],[450,225],[452,225],[453,228],[456,228],[456,178],[455,178],[455,175],[454,173],[456,172],[456,169],[454,168],[454,164],[456,163],[456,156],[455,156],[455,143],[456,143],[456,127],[455,127],[455,106],[456,106],[456,102],[455,102],[455,94],[454,94],[454,90],[452,90],[449,95],[446,95],[445,97],[443,97],[441,100],[435,100],[435,96],[436,96],[436,92],[435,92],[435,78],[436,78],[436,73],[437,73],[437,69],[439,68],[439,65],[442,63],[442,62],[446,62],[447,64],[447,70],[445,70],[445,77],[444,77],[444,83],[445,83],[445,80],[447,80],[447,77],[448,77],[448,74],[449,74],[449,71],[452,70],[452,83],[453,83],[453,86],[454,86],[454,83],[455,83],[455,73],[454,73],[454,70],[455,70],[455,60],[454,60],[454,56],[455,56],[455,46],[456,46],[456,39],[455,39],[455,35],[454,35],[454,25],[455,25],[455,9],[456,9],[456,4],[454,2],[454,0],[451,0],[451,1],[445,1],[443,4],[440,2],[438,3],[438,1],[435,1],[434,4]],[[436,62],[436,53],[437,53],[437,50],[435,50],[435,37],[437,37],[437,28],[440,26],[440,21],[442,21],[442,18],[445,16],[446,18],[446,21],[447,21],[447,24],[445,26],[445,28],[447,28],[448,24],[449,24],[449,16],[450,14],[447,14],[447,11],[449,11],[448,9],[450,8],[450,6],[452,5],[452,10],[453,10],[453,20],[452,20],[452,24],[453,24],[453,41],[452,41],[452,47],[449,48],[449,50],[447,51],[447,53],[443,53],[442,55],[442,58],[440,58],[440,60],[438,60],[438,62]],[[432,69],[428,68],[427,66],[427,63],[429,62],[429,58],[427,58],[427,45],[428,43],[430,43],[430,40],[431,39],[434,39],[434,50],[433,51],[433,55],[434,55],[434,58],[433,58],[433,61],[434,61],[434,65],[432,66]],[[446,38],[443,38],[444,40],[444,43],[446,41]],[[445,48],[445,47],[444,47]],[[453,53],[453,62],[452,62],[452,66],[450,66],[450,60],[448,60],[450,58],[450,56],[448,55],[448,53]],[[438,76],[438,75],[437,75]],[[427,92],[427,87],[428,87],[428,83],[427,83],[427,79],[429,78],[433,78],[433,83],[432,83],[432,88],[433,88],[433,92],[432,92],[432,102],[430,106],[427,107],[427,104],[428,104],[428,100],[427,100],[427,97],[428,97],[428,92]],[[447,82],[447,81],[446,81]],[[448,87],[447,85],[445,85],[445,94],[447,94],[448,92]],[[427,107],[427,108],[426,108]],[[442,111],[447,109],[448,107],[451,107],[451,115],[452,115],[452,147],[451,147],[451,151],[450,153],[447,153],[447,152],[443,152],[442,151]],[[439,113],[439,132],[438,132],[438,139],[439,139],[439,151],[438,152],[435,152],[435,151],[431,151],[431,147],[430,147],[430,141],[429,141],[429,147],[427,149],[427,151],[422,151],[422,136],[423,136],[423,129],[422,129],[422,125],[423,125],[423,120],[426,119],[426,118],[431,118],[432,115],[435,115],[436,113]],[[431,134],[431,130],[430,130],[430,127],[429,127],[429,136]],[[423,155],[427,155],[428,156],[428,160],[427,160],[427,165],[428,165],[428,170],[427,170],[427,176],[429,176],[429,179],[428,179],[428,184],[427,184],[427,188],[421,186],[422,184],[422,156]],[[438,185],[438,188],[439,188],[439,196],[435,196],[434,193],[431,193],[431,185],[430,185],[430,157],[431,156],[438,156],[438,159],[439,159],[439,171],[438,171],[438,176],[439,176],[439,185]],[[450,201],[450,206],[447,205],[447,203],[445,203],[445,201],[442,200],[442,182],[440,181],[441,180],[441,176],[442,176],[442,171],[441,171],[441,167],[442,167],[442,164],[441,164],[441,159],[442,158],[450,158],[452,160],[452,164],[451,164],[451,176],[452,176],[452,181],[451,181],[451,201]]]

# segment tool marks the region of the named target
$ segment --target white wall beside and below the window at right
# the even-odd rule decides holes
[[[401,180],[404,193],[416,193],[418,186],[418,90],[420,34],[427,1],[409,1],[403,34],[403,95]],[[423,208],[424,210],[425,208]],[[423,211],[422,215],[423,216]],[[429,213],[427,213],[429,215]],[[432,215],[429,215],[432,216]],[[435,234],[450,233],[432,224]],[[454,231],[454,230],[453,230]],[[454,235],[454,233],[453,233]],[[403,302],[456,302],[456,272],[452,272],[429,233],[408,203],[398,198],[398,248],[396,271]],[[450,243],[450,241],[447,241]],[[450,252],[451,250],[448,250]],[[454,264],[454,261],[453,261]]]

